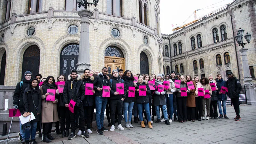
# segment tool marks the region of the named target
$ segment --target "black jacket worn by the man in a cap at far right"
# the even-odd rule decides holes
[[[228,87],[228,97],[230,99],[238,98],[240,91],[242,90],[242,85],[240,81],[236,77],[228,78],[227,80],[227,87]]]

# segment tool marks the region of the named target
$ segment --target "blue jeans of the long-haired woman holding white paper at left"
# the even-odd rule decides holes
[[[35,140],[37,122],[30,121],[30,122],[24,124],[24,127],[25,127],[25,133],[26,133],[25,140],[28,141],[30,135],[31,135],[31,140]]]

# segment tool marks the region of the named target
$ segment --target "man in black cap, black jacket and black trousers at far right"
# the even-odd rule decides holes
[[[226,84],[228,87],[228,97],[231,99],[234,105],[234,109],[236,111],[236,117],[234,119],[236,121],[239,121],[239,119],[241,119],[239,108],[239,94],[242,89],[242,86],[240,84],[240,81],[233,75],[232,72],[228,72],[228,81]]]

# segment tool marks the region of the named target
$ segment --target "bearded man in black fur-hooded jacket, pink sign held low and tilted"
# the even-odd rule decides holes
[[[74,106],[74,111],[78,109],[79,112],[79,131],[81,136],[84,138],[88,138],[89,135],[85,132],[84,128],[84,108],[83,108],[83,100],[85,97],[85,87],[83,81],[80,80],[80,76],[77,74],[76,70],[72,70],[71,74],[68,76],[68,80],[65,83],[63,90],[63,101],[65,107],[68,108],[68,104],[70,100],[76,102]],[[68,137],[68,140],[72,140],[76,137],[76,126],[75,126],[75,114],[71,111],[70,114],[70,123],[71,123],[71,135]]]

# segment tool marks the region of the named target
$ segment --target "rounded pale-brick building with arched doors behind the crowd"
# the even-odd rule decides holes
[[[91,68],[163,73],[159,2],[99,0],[88,7]],[[57,78],[76,69],[82,8],[76,0],[0,0],[0,85],[17,84],[26,70]]]

